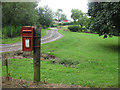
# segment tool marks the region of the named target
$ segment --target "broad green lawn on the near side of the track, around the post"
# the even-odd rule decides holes
[[[42,44],[42,53],[58,57],[57,63],[41,61],[41,80],[48,83],[88,87],[118,87],[118,38],[103,39],[96,34],[65,32],[63,38]],[[14,78],[33,79],[33,60],[12,59],[9,71]],[[5,67],[3,66],[3,76]]]

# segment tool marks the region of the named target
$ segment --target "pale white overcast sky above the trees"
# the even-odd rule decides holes
[[[87,13],[87,3],[88,0],[41,0],[38,4],[38,7],[44,7],[48,5],[54,12],[58,9],[62,9],[63,13],[67,15],[68,20],[71,19],[71,10],[72,9],[79,9],[82,12]]]

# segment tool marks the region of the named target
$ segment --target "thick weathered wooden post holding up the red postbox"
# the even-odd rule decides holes
[[[34,27],[34,34],[33,34],[33,78],[34,82],[40,81],[40,46],[41,45],[41,28],[39,25]]]

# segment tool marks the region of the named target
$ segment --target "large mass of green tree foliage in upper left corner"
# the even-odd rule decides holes
[[[36,23],[35,2],[3,2],[2,3],[2,25],[21,26],[34,25]]]

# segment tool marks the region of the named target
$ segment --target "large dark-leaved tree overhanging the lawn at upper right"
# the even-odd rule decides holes
[[[93,18],[90,29],[99,36],[120,35],[120,2],[91,2],[88,14]]]

